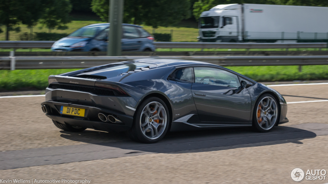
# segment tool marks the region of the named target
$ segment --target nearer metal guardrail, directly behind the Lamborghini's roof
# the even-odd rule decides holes
[[[127,56],[127,57],[0,57],[0,69],[68,69],[135,59],[178,59],[220,66],[328,65],[328,56]]]

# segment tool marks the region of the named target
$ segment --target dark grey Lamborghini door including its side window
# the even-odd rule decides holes
[[[201,121],[249,122],[251,97],[238,76],[218,68],[194,67],[192,94]],[[237,93],[236,93],[237,92]]]

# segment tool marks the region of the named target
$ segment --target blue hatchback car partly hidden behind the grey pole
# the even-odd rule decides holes
[[[56,41],[51,51],[106,51],[109,23],[79,28]],[[122,51],[155,51],[154,37],[141,26],[122,24]]]

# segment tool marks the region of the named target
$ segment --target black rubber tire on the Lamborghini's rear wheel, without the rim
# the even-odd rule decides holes
[[[143,112],[143,110],[144,110],[144,108],[146,108],[146,106],[147,105],[153,105],[153,102],[154,102],[154,104],[156,104],[156,102],[157,103],[159,103],[159,104],[161,104],[162,105],[162,107],[163,107],[163,109],[165,110],[165,111],[162,111],[161,110],[161,112],[159,112],[158,114],[161,114],[162,115],[162,117],[166,117],[166,119],[165,119],[165,123],[164,123],[164,120],[158,120],[158,122],[157,123],[159,123],[159,121],[161,121],[162,123],[160,123],[160,124],[165,124],[165,126],[161,126],[161,127],[157,127],[156,128],[156,132],[161,132],[161,134],[159,135],[158,134],[158,137],[156,138],[156,136],[154,137],[154,138],[149,138],[149,137],[147,137],[147,135],[145,135],[144,133],[143,133],[143,128],[145,128],[146,126],[150,126],[151,128],[152,128],[152,131],[153,131],[153,133],[154,133],[154,127],[153,126],[151,126],[151,123],[150,122],[152,122],[152,118],[150,118],[150,119],[146,119],[146,118],[144,118],[144,115],[142,116],[142,112]],[[159,108],[158,108],[159,109]],[[153,109],[152,109],[153,110]],[[154,109],[155,110],[155,113],[157,112],[157,110],[156,109]],[[165,113],[165,115],[163,115]],[[160,116],[160,115],[159,115]],[[143,118],[143,119],[142,119]],[[143,143],[156,143],[156,142],[158,142],[159,140],[161,140],[164,136],[165,136],[165,134],[167,133],[167,130],[168,130],[168,128],[169,128],[169,125],[170,125],[170,113],[169,113],[169,109],[167,108],[167,106],[166,106],[166,104],[165,104],[165,102],[164,101],[162,101],[161,99],[159,99],[159,98],[157,98],[157,97],[150,97],[150,98],[148,98],[148,99],[146,99],[146,100],[144,100],[139,106],[138,106],[138,108],[136,109],[136,111],[135,111],[135,115],[134,115],[134,117],[133,117],[133,125],[132,125],[132,128],[130,129],[130,130],[128,130],[127,131],[127,134],[128,134],[128,136],[132,139],[132,140],[134,140],[134,141],[137,141],[137,142],[143,142]],[[141,122],[148,122],[148,124],[147,125],[145,125],[145,127],[141,127],[142,125],[141,125]],[[154,123],[155,122],[155,120],[153,120],[153,122],[152,123]],[[160,128],[159,130],[158,130],[158,128]],[[145,129],[147,129],[147,128],[145,128]],[[144,130],[145,130],[144,129]]]

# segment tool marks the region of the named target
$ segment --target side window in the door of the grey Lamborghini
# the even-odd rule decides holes
[[[239,87],[238,76],[225,70],[210,67],[195,67],[195,83]]]

